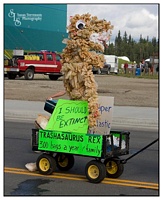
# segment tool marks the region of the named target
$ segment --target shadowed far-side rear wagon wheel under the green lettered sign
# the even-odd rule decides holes
[[[57,153],[55,156],[56,164],[59,170],[68,171],[74,166],[74,156],[66,153]]]

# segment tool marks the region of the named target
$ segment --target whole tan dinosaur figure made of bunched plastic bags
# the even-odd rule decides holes
[[[70,99],[88,101],[90,128],[96,126],[99,117],[97,85],[92,67],[104,66],[102,43],[109,39],[112,28],[110,22],[98,20],[96,16],[75,15],[68,26],[69,39],[64,40],[67,44],[61,60],[64,86]]]

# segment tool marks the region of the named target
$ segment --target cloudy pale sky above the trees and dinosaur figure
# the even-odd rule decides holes
[[[115,37],[120,30],[123,37],[125,31],[127,36],[131,35],[134,40],[153,37],[158,39],[159,36],[159,5],[152,4],[67,4],[67,19],[69,24],[70,16],[75,14],[90,13],[92,16],[97,16],[99,19],[110,21],[114,26],[110,41],[114,42]]]

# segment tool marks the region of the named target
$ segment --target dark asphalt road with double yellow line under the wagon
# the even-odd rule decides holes
[[[105,178],[100,184],[92,184],[85,176],[85,166],[93,159],[91,157],[75,156],[74,166],[67,172],[56,169],[49,176],[29,172],[25,164],[35,162],[40,155],[31,150],[32,127],[32,122],[5,122],[5,195],[158,196],[158,142],[128,160],[119,178]],[[132,131],[130,154],[121,158],[132,155],[157,137],[157,131]]]

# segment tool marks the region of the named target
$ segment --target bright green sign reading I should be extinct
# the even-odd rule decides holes
[[[46,130],[87,133],[88,102],[59,99]]]

